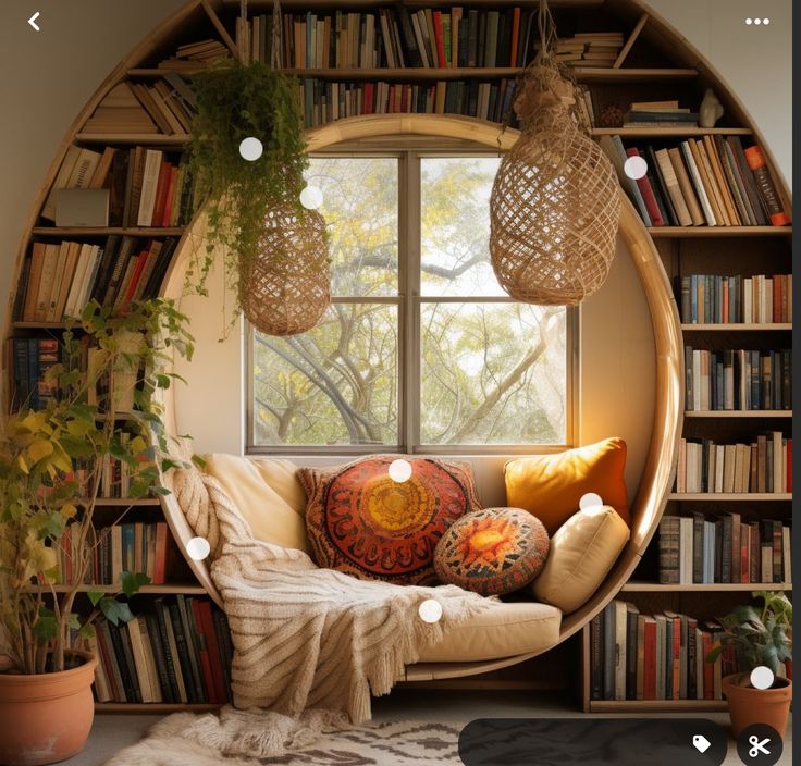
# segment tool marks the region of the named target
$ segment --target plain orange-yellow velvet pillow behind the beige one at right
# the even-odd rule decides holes
[[[626,442],[616,436],[558,455],[519,457],[504,466],[506,505],[534,514],[553,534],[581,496],[594,492],[629,524],[625,468]]]

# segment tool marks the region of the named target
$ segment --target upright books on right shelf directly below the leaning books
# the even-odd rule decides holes
[[[678,293],[686,324],[792,322],[792,274],[690,274]]]

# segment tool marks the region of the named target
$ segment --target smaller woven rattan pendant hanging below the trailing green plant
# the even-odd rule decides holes
[[[243,13],[247,18],[247,3]],[[273,3],[272,60],[280,67],[281,7]],[[247,320],[268,335],[297,335],[311,330],[331,302],[331,273],[325,221],[298,200],[291,184],[286,199],[268,212],[255,258],[242,260],[238,298]]]

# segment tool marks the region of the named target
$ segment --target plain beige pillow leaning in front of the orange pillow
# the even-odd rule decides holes
[[[534,580],[538,601],[576,611],[603,582],[629,539],[629,528],[612,506],[579,510],[551,538],[545,567]]]

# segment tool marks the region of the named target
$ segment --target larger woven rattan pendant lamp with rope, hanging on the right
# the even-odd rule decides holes
[[[520,137],[490,199],[490,256],[516,300],[576,306],[605,282],[620,199],[615,170],[574,119],[575,86],[554,57],[556,33],[540,3],[540,50],[520,76]]]

